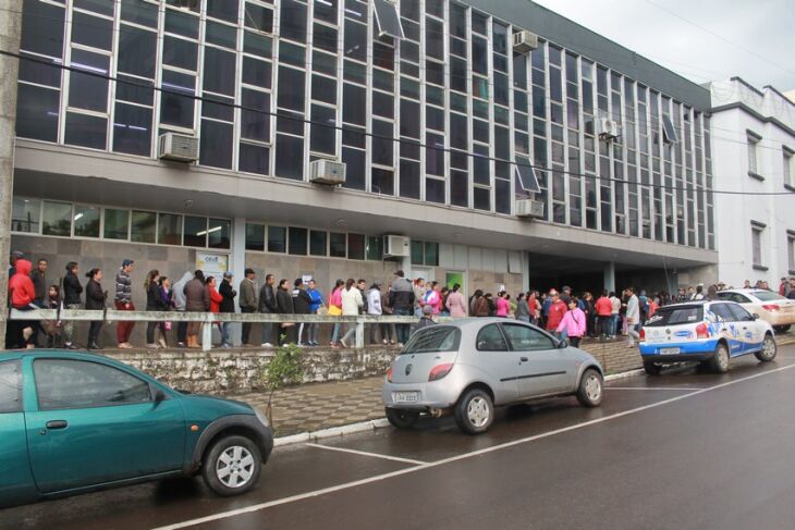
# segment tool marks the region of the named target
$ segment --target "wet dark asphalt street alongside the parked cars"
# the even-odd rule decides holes
[[[279,447],[258,488],[171,480],[0,510],[1,528],[468,529],[795,527],[795,345],[729,373],[693,367],[499,411]]]

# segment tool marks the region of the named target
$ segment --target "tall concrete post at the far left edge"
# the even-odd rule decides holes
[[[0,10],[0,50],[17,53],[22,36],[22,0],[5,0]],[[11,205],[14,193],[16,138],[16,78],[20,64],[0,56],[0,337],[5,340],[8,319],[8,257],[11,254]]]

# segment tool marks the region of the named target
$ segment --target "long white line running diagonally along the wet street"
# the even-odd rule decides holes
[[[444,459],[441,459],[441,460],[436,460],[436,461],[428,463],[428,464],[421,464],[421,465],[418,465],[418,466],[414,466],[414,467],[409,467],[409,468],[405,468],[405,469],[400,469],[397,471],[392,471],[392,472],[383,473],[383,474],[377,474],[377,476],[374,476],[374,477],[368,477],[366,479],[359,479],[359,480],[355,480],[355,481],[352,481],[352,482],[345,482],[343,484],[332,485],[332,486],[329,486],[329,488],[322,488],[320,490],[315,490],[315,491],[310,491],[310,492],[306,492],[306,493],[299,493],[297,495],[292,495],[292,496],[284,497],[284,498],[278,498],[276,501],[269,501],[267,503],[254,504],[254,505],[248,506],[248,507],[245,507],[245,508],[237,508],[237,509],[232,509],[232,510],[229,510],[229,511],[221,511],[221,513],[213,514],[213,515],[209,515],[209,516],[206,516],[206,517],[199,517],[199,518],[191,519],[191,520],[187,520],[187,521],[175,522],[173,525],[168,525],[168,526],[164,526],[164,527],[159,527],[156,530],[178,530],[178,529],[181,529],[181,528],[187,528],[187,527],[193,527],[193,526],[196,526],[196,525],[201,525],[204,522],[212,522],[212,521],[217,521],[219,519],[228,519],[230,517],[235,517],[235,516],[238,516],[238,515],[252,514],[254,511],[260,511],[260,510],[264,510],[264,509],[267,509],[267,508],[271,508],[273,506],[280,506],[280,505],[283,505],[283,504],[290,504],[290,503],[294,503],[294,502],[297,502],[297,501],[303,501],[305,498],[311,498],[311,497],[317,497],[317,496],[320,496],[320,495],[326,495],[327,493],[334,493],[334,492],[338,492],[338,491],[350,490],[352,488],[356,488],[356,486],[359,486],[359,485],[371,484],[374,482],[381,482],[381,481],[391,479],[393,477],[401,477],[403,474],[413,473],[415,471],[421,471],[421,470],[425,470],[425,469],[430,469],[430,468],[435,468],[435,467],[438,467],[438,466],[443,466],[445,464],[451,464],[451,463],[458,461],[458,460],[465,460],[465,459],[468,459],[468,458],[474,458],[476,456],[486,455],[488,453],[493,453],[493,452],[502,451],[502,449],[505,449],[505,448],[509,448],[509,447],[514,447],[516,445],[522,445],[522,444],[526,444],[526,443],[529,443],[529,442],[535,442],[536,440],[542,440],[542,439],[550,437],[550,436],[554,436],[554,435],[558,435],[558,434],[563,434],[565,432],[576,431],[578,429],[583,429],[583,428],[586,428],[586,427],[595,426],[595,424],[598,424],[598,423],[603,423],[606,421],[611,421],[611,420],[614,420],[614,419],[617,419],[617,418],[623,418],[624,416],[631,416],[631,415],[634,415],[634,414],[643,412],[645,410],[649,410],[649,409],[652,409],[652,408],[661,407],[661,406],[668,405],[670,403],[678,402],[678,400],[682,400],[682,399],[687,399],[687,398],[693,397],[693,396],[697,396],[697,395],[700,395],[700,394],[706,394],[707,392],[712,392],[712,391],[715,391],[715,390],[724,389],[726,386],[731,386],[733,384],[742,383],[742,382],[745,382],[745,381],[750,381],[751,379],[763,378],[765,375],[770,375],[771,373],[778,373],[778,372],[781,372],[783,370],[790,370],[790,369],[793,369],[793,368],[795,368],[795,365],[787,365],[785,367],[774,368],[774,369],[771,369],[771,370],[768,370],[768,371],[765,371],[765,372],[755,373],[754,375],[748,375],[746,378],[736,379],[734,381],[727,381],[725,383],[717,384],[714,386],[709,386],[707,389],[700,389],[698,391],[690,392],[688,394],[682,394],[680,396],[670,397],[670,398],[663,399],[661,402],[652,403],[652,404],[649,404],[649,405],[644,405],[643,407],[637,407],[637,408],[633,408],[633,409],[629,409],[629,410],[624,410],[623,412],[616,412],[616,414],[613,414],[613,415],[610,415],[610,416],[604,416],[603,418],[597,418],[597,419],[594,419],[594,420],[584,421],[582,423],[576,423],[574,426],[564,427],[562,429],[556,429],[554,431],[548,431],[548,432],[543,432],[541,434],[536,434],[536,435],[533,435],[533,436],[527,436],[527,437],[523,437],[523,439],[519,439],[519,440],[514,440],[513,442],[505,442],[505,443],[502,443],[502,444],[499,444],[499,445],[492,445],[491,447],[485,447],[482,449],[473,451],[473,452],[469,452],[469,453],[463,453],[463,454],[456,455],[456,456],[451,456],[449,458],[444,458]]]

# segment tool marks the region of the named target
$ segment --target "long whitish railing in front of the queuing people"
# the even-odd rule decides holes
[[[119,311],[117,309],[33,309],[20,311],[12,309],[9,320],[57,320],[90,322],[200,322],[201,349],[208,352],[212,347],[212,324],[216,322],[258,323],[258,324],[354,324],[356,340],[354,347],[365,347],[365,324],[416,324],[417,317],[394,315],[375,316],[358,315],[355,317],[328,315],[274,315],[274,313],[240,313],[240,312],[194,312],[194,311]],[[452,320],[451,317],[435,317],[438,322]]]

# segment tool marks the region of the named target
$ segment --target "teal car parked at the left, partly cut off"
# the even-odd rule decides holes
[[[201,473],[253,489],[273,448],[250,406],[184,394],[107,357],[0,352],[0,508]]]

